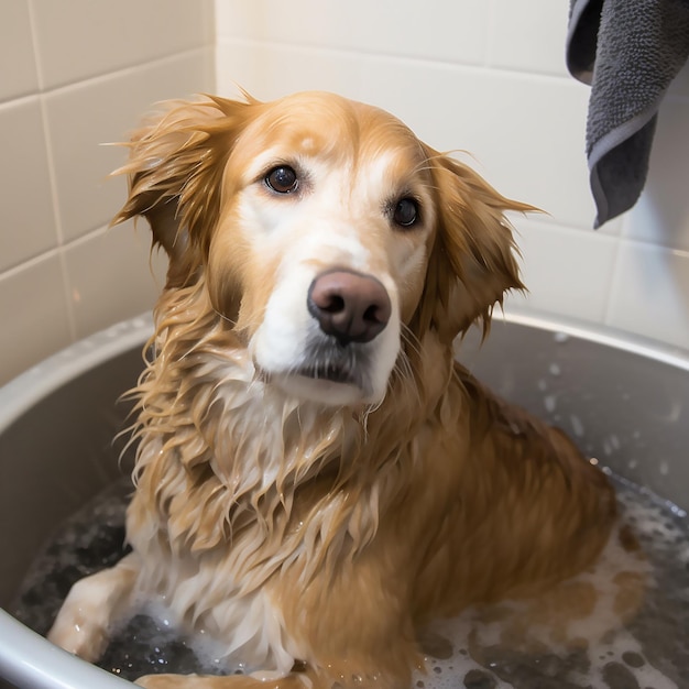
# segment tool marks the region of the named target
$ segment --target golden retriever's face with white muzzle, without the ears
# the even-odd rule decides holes
[[[382,400],[433,237],[425,163],[387,113],[319,94],[264,108],[242,131],[208,284],[271,381],[329,404]]]

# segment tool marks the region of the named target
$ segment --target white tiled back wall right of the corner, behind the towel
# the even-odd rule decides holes
[[[517,219],[531,295],[510,307],[689,348],[689,69],[666,98],[636,208],[599,231],[583,155],[588,87],[565,67],[567,0],[217,0],[218,90],[326,89],[462,149]]]

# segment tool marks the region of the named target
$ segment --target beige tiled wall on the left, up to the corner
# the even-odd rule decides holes
[[[0,0],[0,383],[153,304],[108,179],[151,103],[214,88],[211,0]]]

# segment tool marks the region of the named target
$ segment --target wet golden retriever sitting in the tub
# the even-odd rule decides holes
[[[378,108],[201,97],[138,130],[113,223],[168,255],[135,390],[132,551],[48,635],[86,659],[162,597],[245,675],[144,687],[409,686],[418,634],[591,565],[606,478],[452,344],[522,289],[534,210]]]

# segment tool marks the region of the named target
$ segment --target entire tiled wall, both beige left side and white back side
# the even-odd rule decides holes
[[[593,231],[568,6],[0,0],[0,383],[152,305],[144,223],[106,229],[123,152],[99,144],[156,100],[212,90],[214,44],[220,94],[322,88],[380,105],[547,210],[518,220],[531,296],[510,304],[689,348],[689,69],[664,105],[641,203]]]

